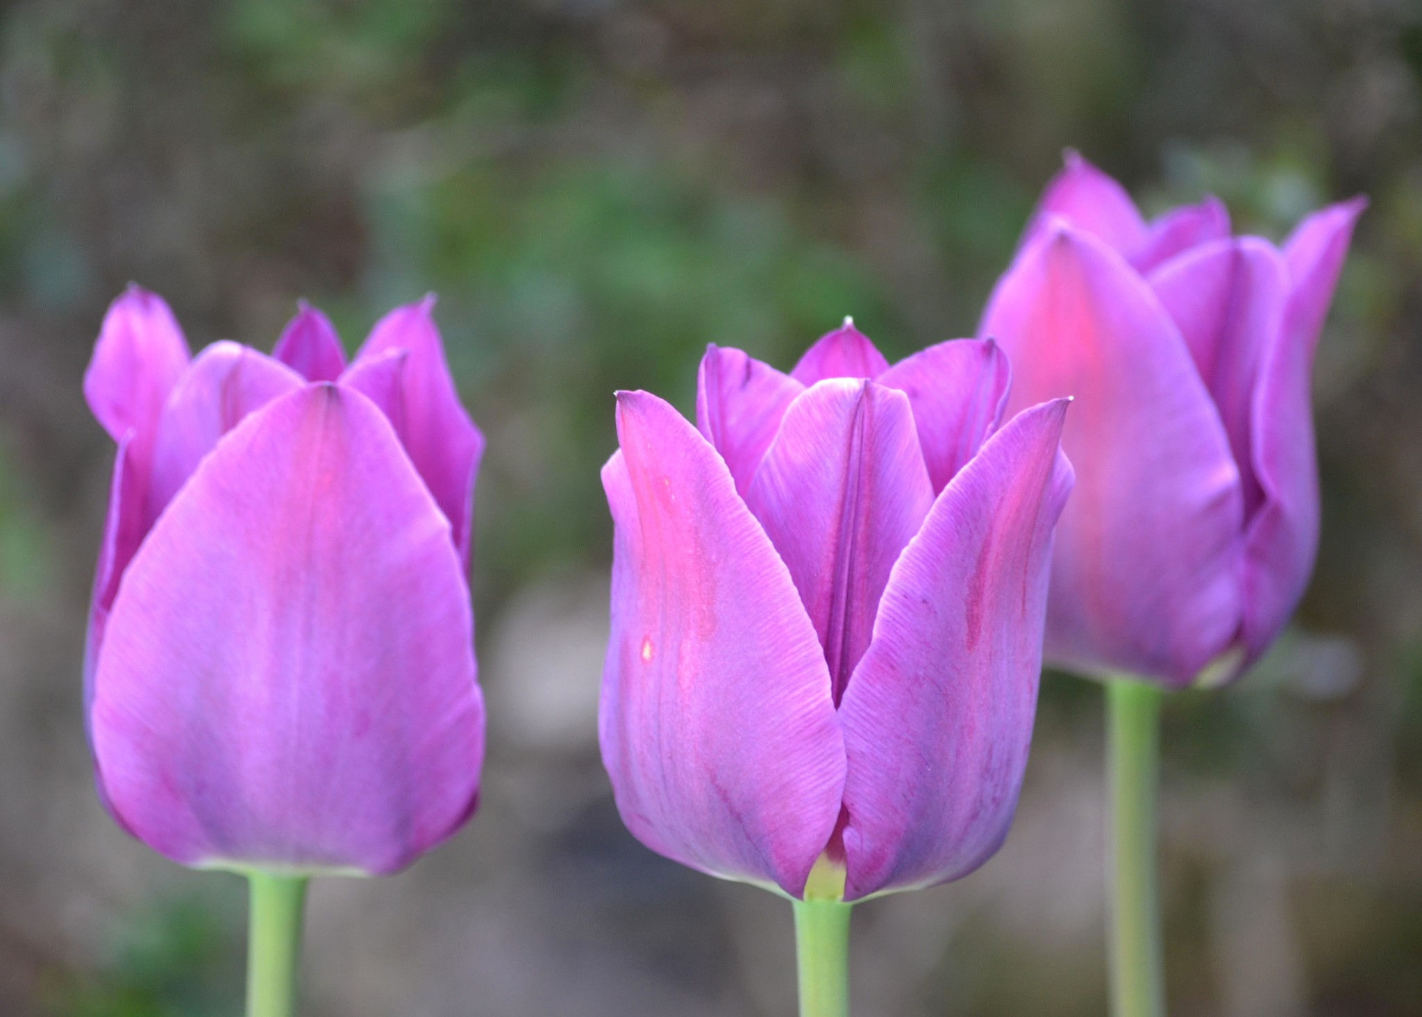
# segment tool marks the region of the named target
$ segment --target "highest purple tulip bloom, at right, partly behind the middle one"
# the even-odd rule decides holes
[[[1049,660],[1214,683],[1283,629],[1318,545],[1314,348],[1362,208],[1276,247],[1231,236],[1213,198],[1148,223],[1068,152],[981,329],[1012,357],[1011,405],[1081,397]]]

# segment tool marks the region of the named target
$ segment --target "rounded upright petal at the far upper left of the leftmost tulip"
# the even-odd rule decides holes
[[[188,357],[188,340],[161,296],[129,286],[109,304],[84,371],[84,398],[114,441],[134,431],[144,472],[158,414]]]

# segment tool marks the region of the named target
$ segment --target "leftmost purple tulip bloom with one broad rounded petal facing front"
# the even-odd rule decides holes
[[[384,873],[474,809],[483,440],[431,310],[391,312],[350,367],[306,307],[274,357],[189,361],[138,287],[104,319],[84,394],[118,459],[87,720],[114,818],[178,862]]]

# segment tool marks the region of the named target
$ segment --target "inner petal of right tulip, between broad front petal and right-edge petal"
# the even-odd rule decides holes
[[[1150,284],[1220,411],[1249,519],[1263,501],[1250,451],[1254,390],[1260,361],[1284,326],[1284,260],[1258,238],[1214,240],[1162,265]]]

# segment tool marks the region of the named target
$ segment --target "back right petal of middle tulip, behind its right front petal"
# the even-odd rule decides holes
[[[879,384],[909,395],[937,494],[997,428],[1012,371],[991,339],[954,339],[900,360]]]

